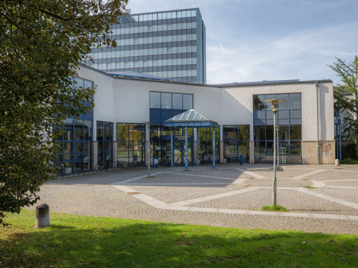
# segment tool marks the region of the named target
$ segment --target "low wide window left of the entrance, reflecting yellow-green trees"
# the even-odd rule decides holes
[[[117,163],[123,166],[144,166],[146,124],[117,123]]]

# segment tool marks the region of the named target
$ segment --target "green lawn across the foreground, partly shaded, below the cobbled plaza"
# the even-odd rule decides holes
[[[354,267],[356,235],[265,231],[51,214],[7,214],[0,267]]]

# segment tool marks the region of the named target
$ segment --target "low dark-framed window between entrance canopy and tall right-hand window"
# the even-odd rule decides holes
[[[223,126],[224,158],[228,163],[249,163],[249,125]]]

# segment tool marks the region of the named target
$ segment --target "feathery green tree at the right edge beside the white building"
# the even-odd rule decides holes
[[[356,142],[358,155],[358,55],[353,55],[354,59],[349,63],[335,57],[337,62],[329,67],[337,73],[341,81],[334,86],[335,106],[350,115],[343,119],[343,136],[346,140]]]

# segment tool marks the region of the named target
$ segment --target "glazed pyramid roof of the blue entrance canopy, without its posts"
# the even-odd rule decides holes
[[[218,124],[196,110],[191,109],[164,121],[164,126],[171,128],[213,128],[217,127]]]

